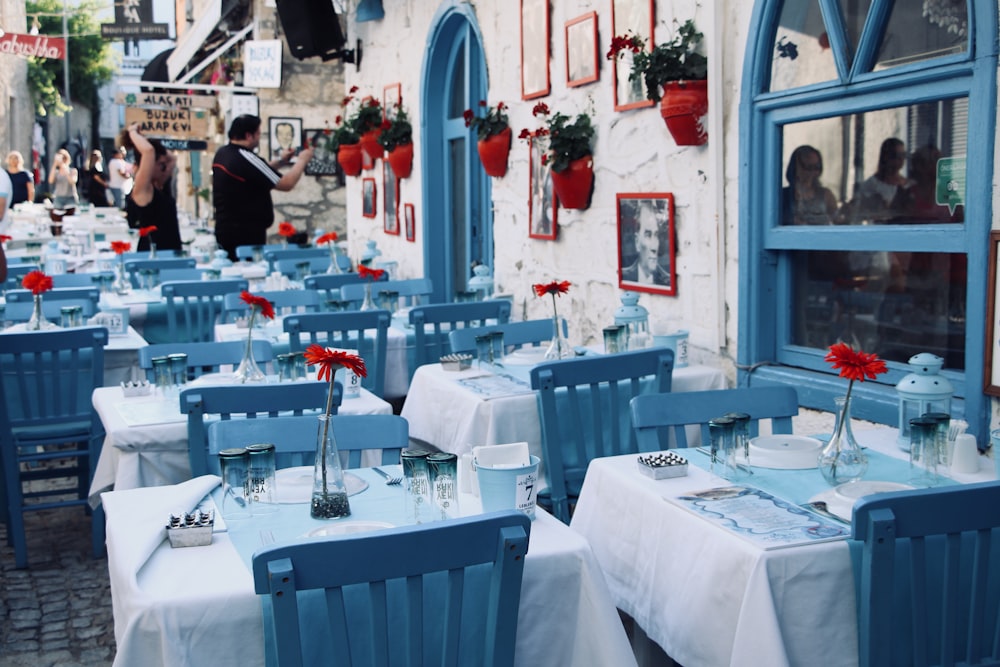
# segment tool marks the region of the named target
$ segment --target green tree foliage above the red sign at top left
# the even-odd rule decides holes
[[[38,16],[40,35],[62,37],[63,6],[62,0],[27,0],[25,10],[29,21],[32,15]],[[66,7],[70,95],[91,109],[98,106],[100,87],[115,74],[113,51],[109,42],[101,38],[97,8],[95,0]],[[63,61],[28,58],[28,87],[38,115],[62,116],[69,110],[62,99]]]

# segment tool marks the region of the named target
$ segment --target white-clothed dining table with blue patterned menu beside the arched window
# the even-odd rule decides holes
[[[779,499],[776,504],[793,508],[781,516],[796,520],[802,515],[795,508],[827,502],[840,516],[835,523],[847,519],[840,532],[849,535],[858,493],[914,480],[896,435],[888,427],[855,431],[868,455],[864,478],[853,482],[861,486],[833,488],[815,467],[755,466],[753,453],[752,474],[736,486]],[[685,667],[857,665],[856,545],[843,535],[782,548],[747,539],[737,529],[743,519],[725,523],[693,511],[696,494],[734,486],[711,472],[707,450],[672,451],[687,462],[686,474],[646,476],[636,455],[594,459],[587,469],[570,527],[590,542],[615,605]],[[995,479],[992,460],[981,458],[975,473],[934,481]],[[764,463],[782,465],[778,459]],[[830,517],[816,516],[829,527]]]

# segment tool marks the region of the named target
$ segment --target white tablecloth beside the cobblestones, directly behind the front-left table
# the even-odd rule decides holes
[[[104,387],[94,391],[93,403],[106,436],[90,484],[92,505],[99,502],[99,494],[112,488],[163,486],[191,478],[187,415],[181,414],[176,398],[172,403],[152,396],[125,398],[120,387]],[[136,419],[146,415],[149,423],[130,425],[119,409],[123,405]],[[339,412],[387,415],[392,414],[392,406],[362,389],[358,398],[344,399]]]

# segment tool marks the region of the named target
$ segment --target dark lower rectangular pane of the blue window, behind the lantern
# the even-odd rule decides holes
[[[888,361],[932,352],[965,369],[963,254],[792,253],[792,344],[844,342]]]

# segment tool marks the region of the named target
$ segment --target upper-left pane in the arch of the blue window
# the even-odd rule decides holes
[[[774,40],[771,91],[838,78],[818,0],[785,2]]]

